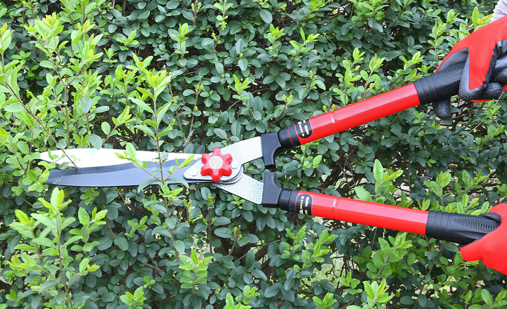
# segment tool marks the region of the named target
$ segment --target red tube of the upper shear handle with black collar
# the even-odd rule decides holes
[[[281,129],[278,132],[280,143],[284,148],[296,147],[419,103],[414,84],[409,84]]]

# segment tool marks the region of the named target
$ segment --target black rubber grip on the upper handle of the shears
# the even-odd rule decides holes
[[[419,96],[419,102],[421,104],[427,104],[457,95],[461,72],[464,66],[464,62],[459,63],[415,81],[414,86]],[[507,68],[507,54],[496,60],[492,76],[498,74],[505,68]]]

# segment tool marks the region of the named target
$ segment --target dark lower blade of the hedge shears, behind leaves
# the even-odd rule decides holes
[[[172,175],[173,180],[168,180],[166,184],[181,183],[178,179],[185,179],[188,183],[206,182],[205,180],[190,180],[183,176],[185,170],[192,166],[197,161],[192,161],[184,168],[177,169]],[[181,161],[183,162],[183,160]],[[164,163],[164,177],[169,175],[168,170],[177,166],[176,161],[170,160]],[[157,163],[150,162],[146,167],[148,172],[153,168],[160,169]],[[160,173],[155,175],[160,177]],[[54,170],[49,173],[49,178],[46,183],[77,186],[77,187],[117,187],[117,186],[137,186],[145,180],[153,179],[153,177],[146,171],[136,167],[132,163],[100,166],[100,167],[85,167],[78,169]]]

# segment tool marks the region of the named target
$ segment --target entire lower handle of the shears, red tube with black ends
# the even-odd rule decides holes
[[[494,219],[441,211],[423,211],[315,192],[283,189],[266,172],[262,205],[322,218],[406,231],[461,245],[476,241],[500,225]]]

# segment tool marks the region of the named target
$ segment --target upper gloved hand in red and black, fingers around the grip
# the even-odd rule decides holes
[[[491,80],[496,59],[507,53],[507,16],[487,24],[459,41],[440,63],[437,70],[465,63],[459,83],[459,97],[465,101],[498,98],[507,84],[507,69]],[[449,118],[451,100],[433,102],[440,119]]]

